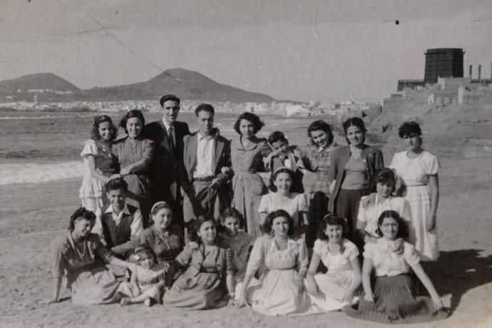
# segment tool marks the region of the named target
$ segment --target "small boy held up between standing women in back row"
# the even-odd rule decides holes
[[[297,146],[289,145],[289,140],[280,131],[273,132],[268,137],[268,143],[270,143],[273,151],[265,158],[265,166],[272,174],[282,166],[291,170],[294,173],[290,188],[291,193],[304,193],[302,177],[304,176],[303,171],[306,170],[306,155],[298,150]]]

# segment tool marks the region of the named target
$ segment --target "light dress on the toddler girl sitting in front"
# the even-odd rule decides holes
[[[165,264],[155,264],[149,269],[140,267],[140,265],[132,265],[130,270],[136,277],[140,291],[135,290],[130,282],[122,282],[119,292],[127,297],[138,297],[140,294],[145,294],[159,303],[162,289],[157,284],[161,278],[164,279],[166,269]]]

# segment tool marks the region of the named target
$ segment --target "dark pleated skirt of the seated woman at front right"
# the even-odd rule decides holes
[[[409,275],[376,277],[374,302],[362,296],[359,304],[342,309],[349,317],[384,324],[411,324],[444,319],[446,312],[437,311],[430,297],[415,297]]]

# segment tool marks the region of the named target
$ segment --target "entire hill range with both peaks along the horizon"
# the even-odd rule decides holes
[[[43,90],[43,93],[28,92]],[[51,91],[71,91],[61,94]],[[21,90],[21,92],[19,92]],[[38,73],[12,80],[0,81],[0,95],[11,96],[14,101],[32,101],[34,94],[39,101],[127,101],[155,100],[165,93],[175,93],[183,100],[198,101],[231,101],[244,103],[255,101],[270,103],[274,98],[263,93],[245,91],[213,81],[207,76],[183,68],[174,68],[160,73],[148,81],[124,86],[96,87],[81,90],[72,83],[53,73]],[[0,98],[1,99],[1,98]]]

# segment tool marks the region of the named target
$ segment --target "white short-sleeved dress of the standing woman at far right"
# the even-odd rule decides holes
[[[409,158],[406,151],[396,153],[390,168],[404,180],[406,185],[405,199],[408,200],[411,212],[410,238],[423,261],[436,261],[439,257],[437,229],[427,231],[431,220],[431,190],[429,175],[439,172],[439,160],[424,150],[416,158]]]

